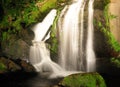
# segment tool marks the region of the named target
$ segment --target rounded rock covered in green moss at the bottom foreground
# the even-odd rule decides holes
[[[65,77],[60,87],[106,87],[105,81],[98,73],[78,73]]]

